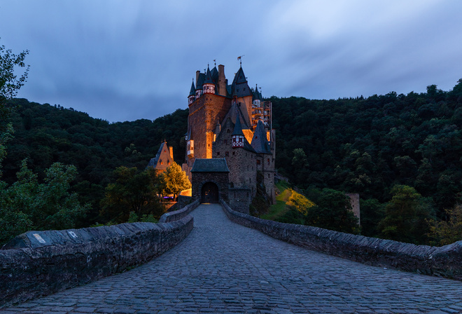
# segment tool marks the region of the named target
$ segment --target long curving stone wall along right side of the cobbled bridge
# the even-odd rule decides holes
[[[221,205],[228,218],[237,224],[310,250],[368,265],[462,280],[462,241],[444,247],[413,245],[313,226],[283,224],[236,212],[223,200]]]

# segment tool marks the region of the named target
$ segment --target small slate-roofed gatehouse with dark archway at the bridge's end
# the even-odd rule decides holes
[[[191,169],[193,198],[201,203],[228,202],[229,172],[225,158],[196,158]]]

